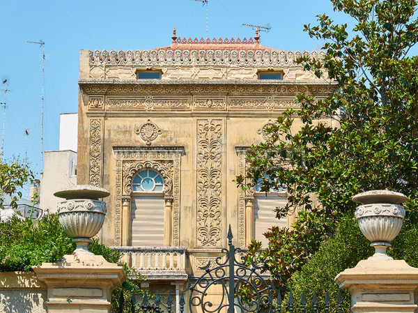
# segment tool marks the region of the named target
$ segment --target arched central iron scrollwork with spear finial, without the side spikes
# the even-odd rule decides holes
[[[217,257],[215,267],[210,268],[209,261],[206,266],[201,267],[205,273],[196,282],[187,286],[185,291],[190,291],[189,309],[200,307],[203,313],[234,313],[235,308],[242,313],[273,312],[273,294],[277,292],[273,282],[268,284],[258,273],[261,266],[257,266],[251,259],[251,266],[247,266],[245,257],[239,247],[232,244],[232,231],[229,225],[228,240],[229,249],[223,248],[224,257]],[[219,289],[222,291],[219,292]],[[249,291],[249,300],[243,294],[242,289]],[[212,291],[212,292],[211,292]],[[219,296],[219,301],[212,303],[208,297],[214,298],[214,294]],[[199,312],[199,310],[198,310]]]

